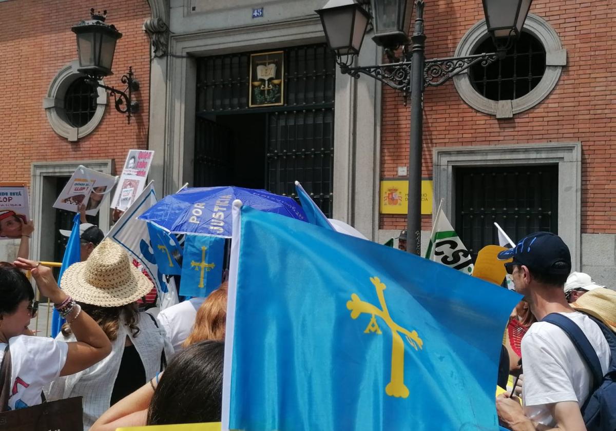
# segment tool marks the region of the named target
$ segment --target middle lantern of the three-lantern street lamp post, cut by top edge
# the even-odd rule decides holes
[[[408,42],[407,0],[371,0],[378,46],[395,49]]]

